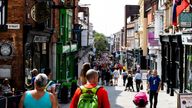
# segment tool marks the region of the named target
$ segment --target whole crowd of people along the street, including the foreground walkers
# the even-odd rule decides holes
[[[84,93],[82,88],[88,89],[86,91],[87,93],[94,88],[98,88],[96,91],[96,96],[98,97],[98,108],[110,108],[108,93],[102,85],[118,86],[118,79],[120,77],[123,79],[125,91],[128,90],[134,92],[133,83],[135,81],[136,91],[138,93],[135,95],[133,103],[137,108],[145,108],[148,99],[145,92],[140,92],[143,83],[140,68],[137,68],[135,72],[133,72],[131,68],[126,69],[124,66],[120,66],[119,63],[98,63],[96,65],[91,65],[88,62],[84,63],[78,81],[79,87],[76,89],[72,97],[70,108],[78,107],[81,95]],[[26,91],[23,94],[19,108],[58,108],[59,103],[57,100],[56,85],[54,81],[51,80],[51,69],[46,68],[44,73],[40,74],[37,69],[33,69],[32,75],[31,83],[28,85],[31,85],[33,89]],[[157,107],[160,83],[161,80],[157,75],[157,71],[149,70],[147,73],[147,93],[149,93],[150,108]]]

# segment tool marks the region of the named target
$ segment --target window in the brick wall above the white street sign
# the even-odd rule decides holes
[[[7,5],[8,0],[0,0],[0,31],[7,30]]]

